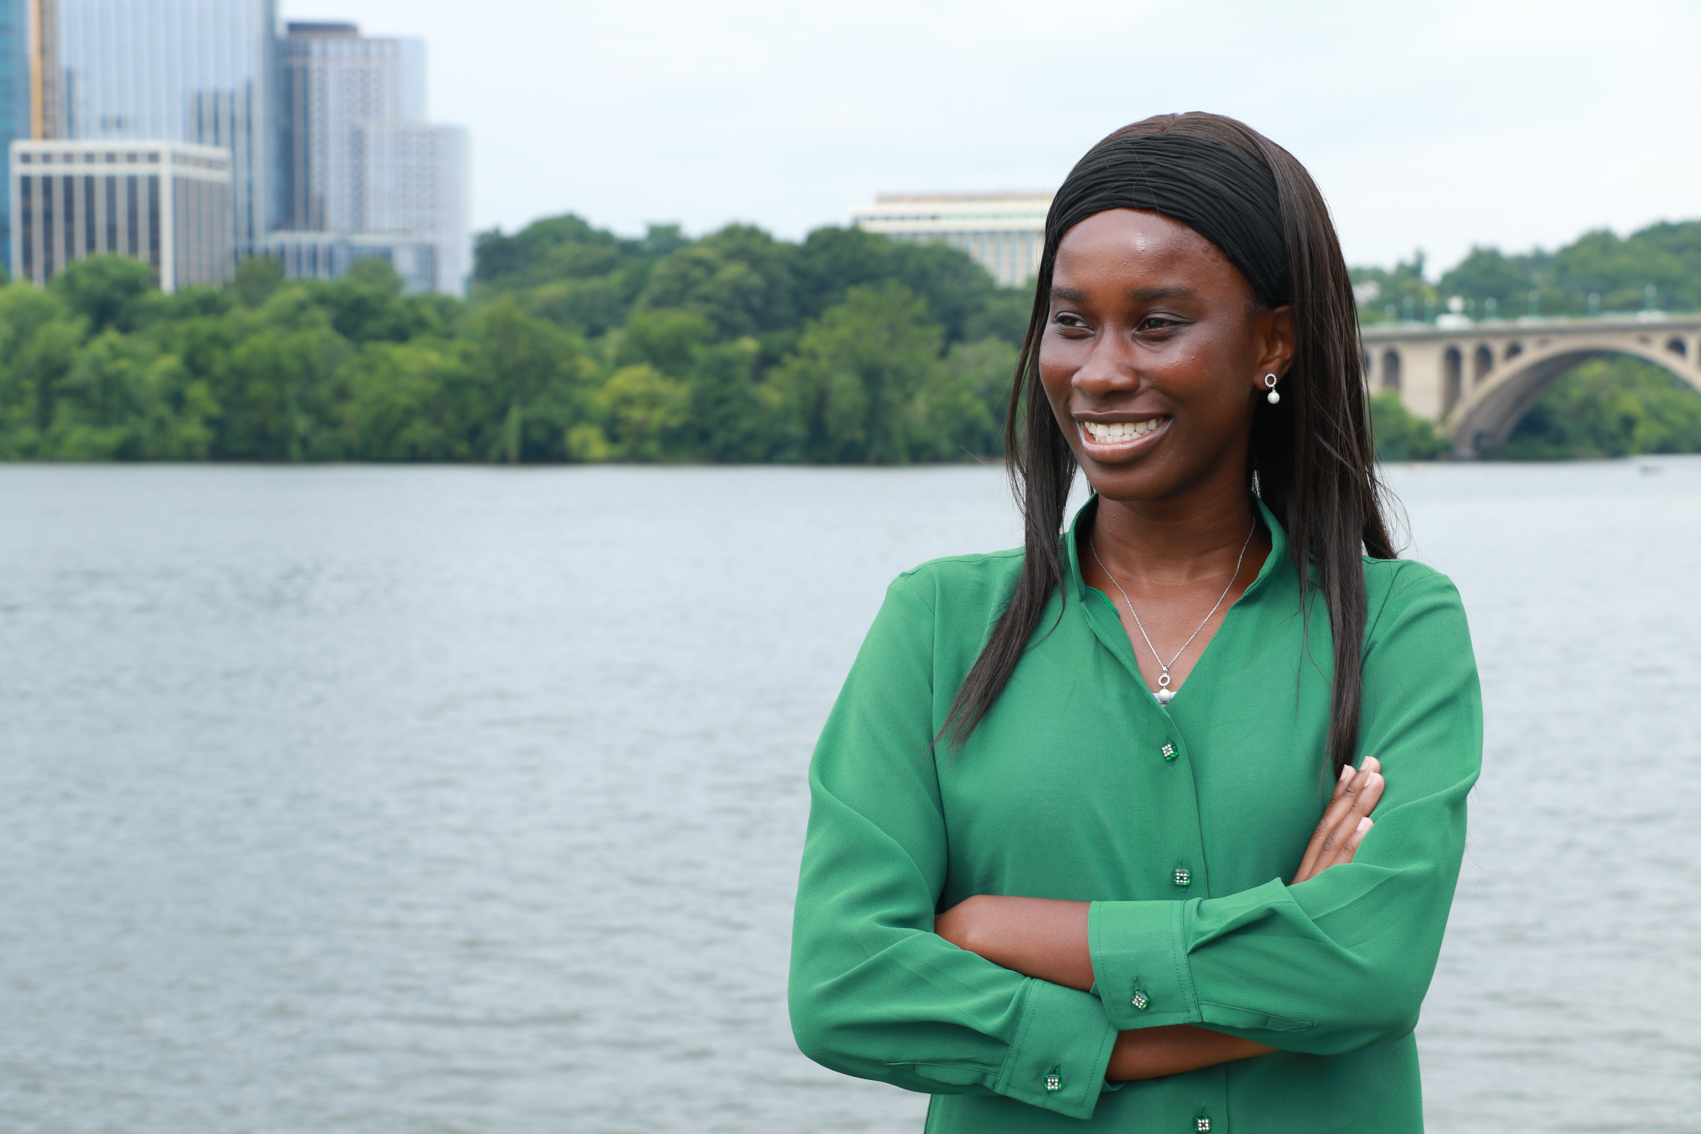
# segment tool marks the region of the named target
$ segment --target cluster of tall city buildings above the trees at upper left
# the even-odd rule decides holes
[[[77,148],[20,158],[48,143]],[[425,119],[418,37],[362,36],[349,20],[281,24],[276,0],[0,0],[0,145],[12,163],[0,243],[9,270],[37,284],[73,258],[117,252],[150,262],[172,291],[269,253],[287,275],[323,279],[381,257],[408,291],[464,292],[466,133]],[[126,146],[160,163],[160,146],[175,145],[225,155],[228,199],[204,199],[194,179],[174,196],[153,173],[99,190],[60,170],[134,162],[117,155]],[[167,213],[187,213],[124,219],[136,207],[160,219],[162,192]],[[211,245],[179,247],[174,233],[199,233],[214,214],[230,228],[228,264],[202,270]]]

